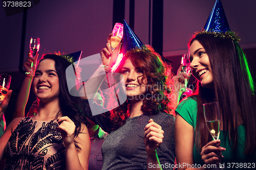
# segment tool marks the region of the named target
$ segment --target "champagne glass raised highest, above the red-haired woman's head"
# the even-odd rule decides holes
[[[116,23],[113,28],[112,34],[113,35],[110,38],[110,46],[111,46],[111,50],[114,51],[123,38],[123,24]],[[111,59],[111,56],[109,58],[108,64],[104,65],[105,70],[108,70],[108,71],[112,70],[112,68],[109,66],[110,59]]]

